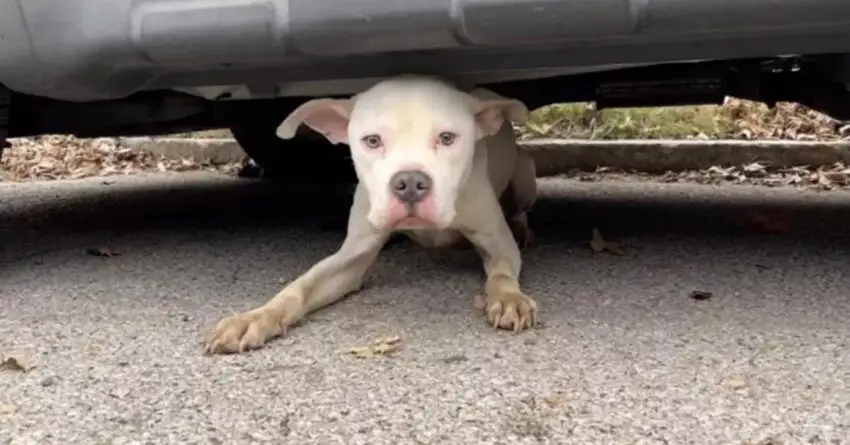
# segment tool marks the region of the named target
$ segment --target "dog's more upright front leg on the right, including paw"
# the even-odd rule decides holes
[[[469,230],[464,231],[481,255],[487,274],[484,295],[476,299],[476,307],[494,327],[519,332],[534,325],[537,303],[520,289],[520,249],[496,196],[482,192],[478,197],[481,207],[471,213],[481,216],[472,218]]]

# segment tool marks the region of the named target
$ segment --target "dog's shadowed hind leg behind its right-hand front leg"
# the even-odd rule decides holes
[[[528,211],[537,201],[537,170],[534,159],[523,150],[519,150],[511,182],[506,193],[512,202],[508,226],[520,247],[527,247],[534,242],[534,232],[528,225]]]

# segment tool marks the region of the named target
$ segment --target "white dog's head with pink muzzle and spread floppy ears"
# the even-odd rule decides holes
[[[404,76],[349,99],[306,102],[277,135],[292,138],[304,124],[332,143],[347,143],[376,228],[440,229],[455,218],[476,141],[527,114],[516,100],[476,99],[435,79]]]

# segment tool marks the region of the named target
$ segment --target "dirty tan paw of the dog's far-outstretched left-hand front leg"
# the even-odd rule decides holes
[[[236,314],[218,322],[204,340],[207,354],[242,353],[285,332],[281,317],[268,309]]]

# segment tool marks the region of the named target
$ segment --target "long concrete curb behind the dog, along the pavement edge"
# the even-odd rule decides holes
[[[244,152],[233,139],[122,138],[122,147],[166,158],[191,158],[215,163],[238,162]],[[541,139],[521,141],[531,152],[539,176],[578,169],[614,167],[645,173],[706,169],[713,165],[762,162],[772,168],[850,164],[850,141],[586,141]]]

